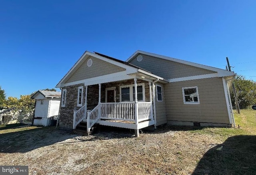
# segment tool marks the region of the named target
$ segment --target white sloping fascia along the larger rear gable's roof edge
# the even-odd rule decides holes
[[[170,61],[173,61],[173,62],[178,62],[178,63],[181,63],[181,64],[186,64],[186,65],[189,65],[189,66],[194,66],[194,67],[197,67],[197,68],[202,68],[202,69],[206,69],[206,70],[211,70],[211,71],[214,71],[214,72],[218,72],[219,74],[223,74],[224,76],[232,76],[234,75],[234,72],[230,72],[230,71],[227,71],[227,70],[223,70],[223,69],[220,69],[220,68],[214,68],[214,67],[211,67],[211,66],[205,66],[205,65],[202,65],[202,64],[197,64],[197,63],[193,63],[193,62],[188,62],[188,61],[184,61],[184,60],[179,60],[177,58],[171,58],[171,57],[167,57],[167,56],[162,56],[162,55],[158,55],[158,54],[152,54],[152,53],[149,53],[149,52],[144,52],[144,51],[141,51],[141,50],[137,50],[134,54],[132,54],[132,56],[130,56],[126,62],[129,62],[134,56],[136,56],[137,54],[144,54],[144,55],[148,55],[148,56],[153,56],[153,57],[157,57],[157,58],[162,58],[164,60],[170,60]]]

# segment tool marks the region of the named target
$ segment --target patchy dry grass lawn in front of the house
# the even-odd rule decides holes
[[[255,174],[256,111],[241,111],[240,129],[166,126],[140,137],[109,128],[90,136],[54,127],[5,129],[0,165],[28,165],[32,175]]]

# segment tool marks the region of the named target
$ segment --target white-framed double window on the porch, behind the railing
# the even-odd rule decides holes
[[[137,84],[137,98],[138,101],[145,101],[145,85]],[[120,86],[120,101],[130,102],[135,101],[135,87],[133,85]]]

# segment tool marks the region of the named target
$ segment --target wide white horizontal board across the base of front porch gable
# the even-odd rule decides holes
[[[79,80],[79,81],[76,81],[76,82],[61,84],[61,87],[72,86],[72,85],[82,84],[82,83],[84,83],[84,86],[89,86],[89,85],[99,84],[99,83],[107,83],[107,82],[114,82],[114,81],[120,81],[120,80],[127,80],[127,79],[133,78],[133,76],[128,75],[128,74],[132,74],[132,73],[136,73],[136,72],[131,72],[131,71],[126,70],[126,71],[117,72],[117,73],[114,73],[114,74],[108,74],[108,75],[104,75],[104,76]]]

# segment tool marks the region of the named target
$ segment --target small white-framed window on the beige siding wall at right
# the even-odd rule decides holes
[[[198,88],[182,87],[184,104],[199,104]]]

